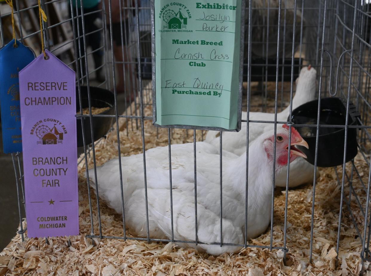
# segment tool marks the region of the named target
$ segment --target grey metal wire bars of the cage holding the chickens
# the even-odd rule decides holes
[[[111,129],[112,132],[116,132],[116,137],[118,140],[118,160],[119,160],[119,187],[121,192],[121,212],[123,214],[122,223],[123,223],[123,235],[113,236],[106,235],[104,227],[102,227],[101,222],[101,201],[99,199],[98,192],[98,177],[96,174],[96,158],[95,158],[95,147],[97,143],[92,143],[90,146],[85,145],[81,150],[84,154],[80,162],[85,162],[86,176],[88,181],[88,197],[89,197],[89,209],[90,209],[90,219],[91,219],[91,232],[87,237],[99,237],[99,238],[111,238],[111,239],[124,239],[124,240],[145,240],[147,242],[151,241],[161,241],[161,242],[180,242],[180,243],[193,243],[194,245],[204,244],[204,242],[198,239],[198,228],[203,223],[197,214],[197,157],[200,156],[197,153],[196,142],[197,142],[197,133],[196,130],[193,130],[193,162],[194,162],[194,228],[195,236],[194,240],[183,240],[177,239],[176,235],[174,236],[174,220],[175,214],[173,214],[173,187],[174,179],[172,176],[172,163],[171,163],[171,146],[173,135],[173,129],[167,129],[167,146],[168,146],[168,163],[169,163],[169,187],[170,187],[170,212],[171,212],[171,236],[168,239],[155,239],[151,238],[150,233],[150,222],[148,218],[148,195],[147,195],[147,167],[146,167],[146,143],[145,143],[145,132],[148,127],[145,122],[152,120],[152,116],[149,116],[145,113],[145,108],[151,106],[151,96],[150,90],[145,84],[148,83],[148,80],[145,79],[147,72],[145,71],[145,66],[151,64],[151,24],[148,21],[148,16],[150,14],[150,3],[149,1],[142,0],[142,6],[139,7],[138,0],[134,1],[134,6],[132,1],[129,0],[119,0],[119,20],[122,21],[122,24],[119,24],[118,32],[116,32],[116,25],[112,18],[112,1],[108,0],[108,7],[106,2],[102,0],[102,6],[95,11],[90,11],[85,13],[83,9],[83,1],[77,0],[81,4],[81,9],[77,6],[74,6],[72,2],[67,0],[50,0],[42,1],[42,5],[45,7],[46,12],[48,7],[52,5],[60,5],[68,11],[69,16],[64,16],[62,21],[56,23],[44,23],[44,32],[46,39],[46,48],[50,49],[53,53],[56,53],[60,59],[65,61],[68,66],[77,69],[76,70],[76,86],[78,87],[78,96],[80,99],[80,113],[76,117],[81,120],[81,126],[84,130],[83,120],[89,120],[90,126],[94,124],[94,118],[98,117],[112,117],[115,119],[115,127]],[[143,4],[144,2],[144,4]],[[370,259],[370,236],[371,236],[371,212],[369,201],[370,199],[370,179],[371,179],[371,160],[369,157],[370,149],[367,144],[371,143],[371,135],[369,129],[370,125],[370,115],[371,115],[371,105],[370,105],[370,84],[371,84],[371,28],[368,27],[371,22],[371,13],[370,5],[366,4],[365,0],[319,0],[313,1],[304,0],[294,0],[293,6],[288,5],[288,0],[279,0],[278,7],[272,6],[270,1],[267,2],[266,7],[255,7],[254,1],[246,1],[246,36],[245,36],[245,49],[247,52],[244,57],[244,76],[246,77],[247,82],[247,94],[244,96],[246,102],[243,103],[244,110],[247,111],[247,119],[242,120],[243,124],[246,123],[246,185],[245,185],[245,206],[244,206],[244,235],[245,240],[244,244],[238,243],[224,243],[223,236],[225,238],[225,233],[223,233],[223,180],[222,173],[222,145],[226,141],[222,140],[222,132],[220,132],[220,142],[219,142],[219,161],[220,161],[220,240],[218,242],[211,243],[213,245],[221,246],[242,246],[242,247],[257,247],[257,248],[267,248],[270,250],[279,249],[284,252],[284,260],[286,259],[286,253],[289,250],[288,246],[288,236],[287,236],[287,224],[289,215],[287,212],[288,209],[288,188],[289,188],[289,174],[290,166],[288,166],[287,177],[286,177],[286,195],[285,195],[285,215],[284,215],[284,234],[280,245],[273,244],[273,236],[275,230],[274,218],[274,190],[275,190],[275,170],[272,172],[272,202],[271,202],[271,213],[270,213],[270,241],[269,245],[260,246],[250,244],[246,239],[247,236],[247,220],[248,220],[248,180],[249,180],[249,170],[248,164],[252,162],[249,160],[249,126],[251,123],[267,123],[274,124],[274,133],[276,135],[277,124],[287,123],[289,126],[294,126],[291,119],[288,122],[282,122],[277,119],[277,114],[285,107],[288,103],[292,106],[293,100],[293,80],[295,70],[299,70],[304,63],[311,63],[312,66],[319,68],[319,87],[318,87],[318,110],[317,115],[318,119],[316,124],[296,124],[296,126],[302,127],[312,127],[316,129],[316,157],[315,164],[317,163],[318,158],[318,141],[320,129],[323,127],[334,127],[345,130],[345,141],[344,141],[344,160],[342,167],[335,168],[337,182],[341,186],[341,198],[340,209],[339,209],[339,221],[338,221],[338,233],[336,239],[336,252],[339,252],[340,247],[340,233],[341,233],[341,223],[342,216],[344,212],[349,213],[354,226],[359,235],[359,239],[362,243],[362,253],[361,259],[362,264],[365,260]],[[65,6],[63,6],[63,4]],[[40,30],[30,30],[28,26],[23,26],[23,22],[26,19],[23,17],[23,14],[30,11],[33,12],[37,8],[37,5],[32,5],[30,7],[23,7],[22,3],[19,3],[16,0],[16,11],[14,13],[17,17],[17,24],[19,24],[19,38],[24,43],[32,44],[33,41],[36,41],[40,35]],[[135,15],[133,12],[135,11]],[[255,24],[253,23],[253,16],[256,11],[263,11],[267,14],[267,17],[263,20],[262,23]],[[270,14],[273,12],[278,12],[278,20],[272,22]],[[293,13],[293,23],[288,22],[289,13]],[[301,22],[298,24],[296,21],[297,14],[300,13],[302,16]],[[87,16],[97,15],[101,17],[102,26],[96,30],[87,31],[87,26],[85,25],[85,19]],[[6,37],[6,32],[4,31],[4,23],[6,22],[7,17],[10,16],[10,13],[1,12],[0,13],[0,37],[1,45],[6,44],[9,41],[9,37]],[[308,20],[308,17],[311,17]],[[303,20],[306,18],[307,20]],[[81,22],[81,23],[80,23]],[[61,27],[66,27],[70,29],[69,39],[66,39],[62,43],[55,43],[56,38],[53,37],[53,31],[59,30]],[[271,29],[272,26],[277,27],[277,39],[272,42],[269,40],[270,36],[273,34]],[[253,36],[252,28],[262,27],[262,41],[255,41]],[[282,30],[282,33],[281,31]],[[286,36],[292,30],[292,36],[289,41],[286,39]],[[309,34],[314,34],[315,39],[311,40]],[[89,49],[89,38],[95,34],[102,36],[101,45],[97,49]],[[119,36],[119,37],[118,37]],[[121,41],[121,45],[116,45],[116,41]],[[297,45],[296,41],[299,41]],[[275,45],[275,57],[270,57],[268,50],[272,47],[272,44]],[[256,58],[255,53],[252,51],[252,46],[258,44],[263,49],[263,55],[261,60],[257,62],[254,60]],[[73,55],[72,59],[68,58],[68,55],[65,54],[62,50],[66,47],[72,49]],[[95,54],[99,51],[104,52],[104,57],[102,58],[102,64],[96,68],[92,68],[89,64],[89,61],[93,58]],[[345,51],[350,50],[349,52],[344,53]],[[285,52],[290,51],[290,64],[286,63]],[[320,114],[320,99],[325,95],[329,94],[329,90],[332,88],[331,83],[328,84],[328,81],[331,82],[331,70],[332,64],[329,63],[327,59],[324,59],[323,53],[328,51],[330,53],[331,59],[340,58],[338,62],[338,74],[335,78],[336,88],[339,92],[339,96],[347,100],[347,120],[344,125],[326,125],[322,124],[319,118]],[[116,54],[121,53],[120,60]],[[341,56],[344,53],[343,56]],[[298,57],[295,54],[299,54]],[[89,60],[89,61],[88,61]],[[296,63],[298,61],[298,63]],[[289,70],[289,66],[291,69]],[[261,104],[255,106],[252,103],[252,68],[259,69],[262,76],[259,76],[260,90],[259,95],[261,97]],[[92,73],[97,73],[101,69],[104,70],[104,81],[97,82],[93,81]],[[273,74],[271,73],[273,69]],[[290,72],[289,81],[285,81],[285,76],[288,76]],[[259,73],[260,74],[260,73]],[[270,75],[272,74],[272,75]],[[119,97],[118,85],[120,81],[123,80],[125,84],[124,92],[124,106],[125,113],[120,113],[119,108]],[[284,82],[290,82],[290,88],[287,89],[284,85]],[[92,114],[91,99],[89,93],[89,86],[104,86],[106,89],[113,90],[114,92],[114,109],[115,113],[113,115],[99,115]],[[269,89],[268,83],[275,85],[275,89]],[[81,104],[81,86],[86,84],[88,86],[88,101],[89,101],[89,114],[82,114],[82,104]],[[274,104],[269,102],[269,97],[274,94]],[[128,96],[134,96],[132,104],[130,100],[127,99]],[[348,126],[348,114],[349,114],[349,103],[355,103],[357,110],[361,114],[359,120],[359,125]],[[250,120],[249,113],[251,111],[260,110],[262,112],[274,112],[275,119],[272,121],[264,120]],[[290,118],[292,115],[292,107],[290,108]],[[145,210],[146,210],[146,237],[132,237],[128,236],[126,233],[127,223],[125,221],[125,176],[123,175],[121,169],[121,144],[120,139],[122,138],[122,133],[119,132],[119,119],[125,119],[126,122],[126,135],[132,135],[136,130],[139,131],[141,136],[141,146],[143,154],[143,176],[144,176],[144,191],[145,191]],[[357,164],[354,160],[351,163],[345,163],[346,150],[347,150],[347,130],[348,129],[359,129],[358,132],[358,151],[363,161],[368,166],[368,181],[362,179],[361,173]],[[92,129],[92,127],[91,127]],[[140,130],[139,130],[140,129]],[[157,129],[158,133],[162,130]],[[185,132],[188,138],[188,131]],[[120,135],[121,134],[121,135]],[[204,132],[201,131],[202,140],[204,137]],[[90,136],[92,140],[93,131],[91,130]],[[191,138],[192,135],[190,135]],[[289,136],[291,136],[291,128],[289,131]],[[154,138],[154,137],[153,137]],[[150,139],[147,138],[146,139]],[[104,138],[101,138],[103,141]],[[83,142],[85,144],[86,137],[83,131]],[[98,143],[100,143],[99,141]],[[223,143],[222,143],[223,142]],[[276,143],[274,143],[274,149],[276,149]],[[20,231],[19,234],[23,235],[26,229],[23,229],[22,226],[22,217],[21,217],[21,206],[22,206],[22,197],[24,202],[24,192],[23,192],[23,180],[22,180],[22,168],[19,162],[19,154],[16,154],[18,165],[13,158],[13,164],[16,174],[17,182],[17,192],[19,201],[19,213],[20,213]],[[89,160],[93,160],[93,174],[89,175],[88,164]],[[289,156],[288,156],[289,160]],[[348,166],[347,166],[348,165]],[[313,180],[313,189],[312,189],[312,214],[311,214],[311,232],[310,232],[310,253],[309,260],[312,261],[312,247],[313,247],[313,227],[314,227],[314,211],[315,211],[315,190],[316,190],[316,166],[314,170],[314,180]],[[341,172],[339,172],[341,170]],[[350,171],[349,171],[350,170]],[[341,177],[340,177],[341,175]],[[93,200],[91,193],[91,182],[89,182],[89,177],[95,179],[95,193],[96,193],[96,208],[98,215],[93,215]],[[353,182],[357,180],[361,183],[361,189],[355,189]],[[19,190],[19,186],[22,190]],[[22,193],[22,194],[20,194]],[[366,196],[367,200],[362,200],[361,197]],[[345,206],[344,206],[345,204]],[[344,208],[343,208],[344,207]],[[343,210],[344,209],[344,210]],[[359,224],[356,220],[356,212],[360,212],[363,223]]]

